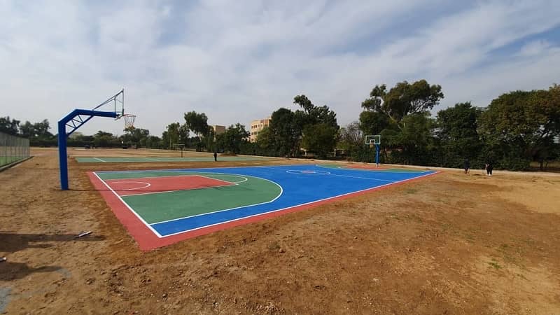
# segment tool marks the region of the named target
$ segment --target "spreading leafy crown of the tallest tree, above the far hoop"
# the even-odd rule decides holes
[[[429,85],[426,80],[418,80],[412,84],[407,81],[397,83],[387,91],[385,84],[375,85],[370,98],[362,102],[368,111],[385,113],[400,128],[405,116],[433,109],[444,97],[441,85]]]

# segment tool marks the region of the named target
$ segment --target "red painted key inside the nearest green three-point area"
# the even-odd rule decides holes
[[[229,181],[221,181],[219,179],[211,179],[199,175],[142,177],[140,179],[109,179],[106,180],[105,183],[120,196],[235,185]],[[148,183],[149,186],[143,183]]]

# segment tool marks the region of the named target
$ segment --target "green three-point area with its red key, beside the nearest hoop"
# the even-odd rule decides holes
[[[186,172],[109,172],[98,175],[148,224],[261,204],[281,194],[281,187],[276,183],[247,175],[188,172],[190,182],[198,181],[188,189],[178,186],[178,180],[184,178]],[[200,179],[215,181],[204,183]],[[156,189],[158,181],[161,184]],[[150,188],[143,183],[151,183]],[[220,197],[216,198],[216,194]]]

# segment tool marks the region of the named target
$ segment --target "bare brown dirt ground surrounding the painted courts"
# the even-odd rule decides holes
[[[31,154],[0,173],[0,313],[560,314],[559,175],[446,171],[142,252],[85,171],[295,161],[71,159],[61,191]]]

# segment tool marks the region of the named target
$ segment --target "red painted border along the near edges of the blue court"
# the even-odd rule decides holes
[[[342,195],[338,197],[331,197],[325,200],[320,200],[316,202],[311,202],[309,204],[304,204],[301,206],[294,206],[287,209],[269,212],[266,214],[259,214],[256,216],[251,216],[249,218],[240,218],[236,221],[230,221],[226,223],[219,223],[216,225],[211,225],[205,228],[198,228],[196,230],[190,230],[186,232],[182,232],[176,235],[172,235],[169,237],[159,237],[155,235],[155,233],[146,226],[144,222],[142,222],[136,214],[134,214],[128,207],[120,200],[117,195],[115,195],[105,184],[102,182],[94,172],[87,172],[87,176],[90,177],[90,181],[92,182],[93,186],[99,190],[99,193],[104,197],[106,204],[111,208],[111,211],[115,214],[115,216],[119,219],[120,223],[125,225],[125,228],[128,230],[130,235],[137,241],[139,248],[142,251],[151,251],[152,249],[167,246],[174,244],[178,241],[183,241],[184,239],[190,239],[193,237],[198,237],[201,235],[207,235],[212,232],[225,230],[228,228],[233,228],[239,225],[246,225],[248,223],[254,223],[258,221],[265,220],[267,218],[274,218],[276,216],[282,216],[283,214],[290,214],[296,211],[302,211],[309,208],[317,207],[321,204],[328,204],[330,202],[334,202],[335,200],[343,200],[349,197],[355,197],[359,195],[364,195],[366,193],[371,193],[374,190],[381,190],[388,187],[399,186],[404,183],[409,183],[411,181],[416,181],[419,179],[425,179],[428,176],[433,176],[435,174],[440,174],[439,171],[435,171],[432,174],[426,174],[423,176],[415,177],[414,179],[406,179],[404,181],[400,181],[398,183],[390,183],[385,186],[374,187],[367,190],[361,190],[356,193],[349,193],[347,195]]]

